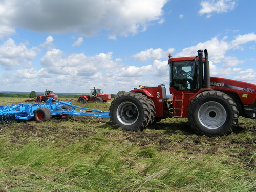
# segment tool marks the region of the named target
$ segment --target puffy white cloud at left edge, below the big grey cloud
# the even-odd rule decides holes
[[[25,44],[16,45],[11,38],[0,45],[0,66],[6,70],[11,70],[24,64],[27,65],[36,56],[37,52],[34,48],[29,49]]]

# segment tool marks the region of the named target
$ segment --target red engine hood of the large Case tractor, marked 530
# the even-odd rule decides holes
[[[211,89],[232,92],[239,96],[243,105],[251,105],[256,99],[256,85],[246,82],[210,77]]]

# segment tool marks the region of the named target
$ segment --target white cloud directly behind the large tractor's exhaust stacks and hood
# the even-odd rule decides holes
[[[214,37],[208,41],[200,42],[195,46],[185,48],[174,57],[196,56],[197,50],[207,49],[209,53],[209,60],[211,61],[211,76],[223,78],[233,76],[236,80],[245,80],[246,82],[255,83],[255,71],[243,71],[242,66],[246,63],[247,59],[239,60],[237,57],[227,56],[227,52],[229,50],[239,49],[241,45],[252,41],[256,41],[256,35],[254,33],[238,35],[229,42],[226,37],[222,39]],[[248,72],[247,75],[245,75],[246,72]],[[236,74],[241,75],[236,76]]]

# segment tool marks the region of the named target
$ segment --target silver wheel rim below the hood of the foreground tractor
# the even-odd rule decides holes
[[[208,129],[218,129],[225,123],[227,113],[220,103],[210,101],[200,107],[198,117],[201,124]]]

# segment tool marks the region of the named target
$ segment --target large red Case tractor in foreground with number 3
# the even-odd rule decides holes
[[[237,126],[239,115],[256,119],[256,86],[210,77],[207,50],[198,50],[195,57],[169,55],[168,64],[172,99],[166,97],[164,85],[120,94],[110,106],[114,124],[142,131],[167,117],[187,117],[199,133],[222,136]]]

